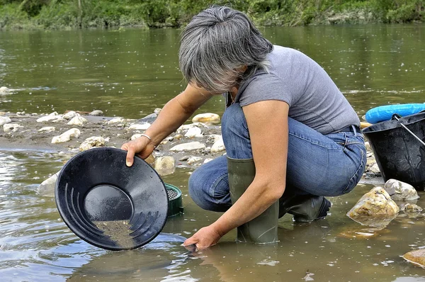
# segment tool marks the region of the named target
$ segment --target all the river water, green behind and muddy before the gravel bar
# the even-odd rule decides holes
[[[327,70],[359,116],[388,103],[424,103],[425,26],[266,28],[272,43],[294,47]],[[101,109],[140,118],[184,89],[178,69],[180,30],[6,31],[0,33],[0,111],[50,113]],[[215,97],[198,112],[222,114]],[[191,254],[172,235],[145,247],[108,252],[76,237],[38,184],[68,154],[0,148],[1,281],[425,281],[425,271],[400,256],[425,247],[424,218],[400,213],[383,230],[345,213],[373,186],[331,198],[326,220],[280,220],[278,244],[235,244],[235,232]],[[164,181],[183,191],[184,215],[164,232],[190,237],[220,216],[188,196],[191,171]],[[418,205],[425,207],[425,194]]]

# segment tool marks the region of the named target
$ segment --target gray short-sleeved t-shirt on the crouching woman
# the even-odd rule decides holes
[[[243,81],[235,98],[246,106],[266,100],[285,101],[289,116],[322,134],[360,125],[358,115],[334,81],[314,60],[297,50],[275,45],[268,72]]]

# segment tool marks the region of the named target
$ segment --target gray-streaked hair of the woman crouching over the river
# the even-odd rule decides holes
[[[270,41],[242,12],[211,6],[194,16],[183,30],[179,64],[190,84],[224,93],[254,74],[267,70]],[[241,68],[246,66],[245,72]]]

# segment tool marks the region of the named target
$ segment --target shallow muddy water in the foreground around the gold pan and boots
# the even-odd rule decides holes
[[[1,281],[422,281],[424,269],[400,256],[425,247],[425,218],[404,214],[383,230],[364,227],[345,216],[370,185],[331,198],[326,220],[295,224],[280,220],[280,242],[269,246],[235,244],[235,232],[215,247],[191,254],[181,240],[159,235],[145,247],[108,252],[69,231],[55,201],[36,192],[49,171],[67,156],[55,152],[0,152]],[[185,214],[170,218],[164,232],[189,237],[219,214],[200,210],[187,195],[189,170],[164,181],[183,191]],[[418,205],[425,206],[421,193]]]

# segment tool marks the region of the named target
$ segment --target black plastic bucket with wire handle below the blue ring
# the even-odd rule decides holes
[[[416,190],[425,188],[425,113],[407,115],[399,120],[387,120],[362,130],[375,154],[385,181],[397,179],[411,184]]]

